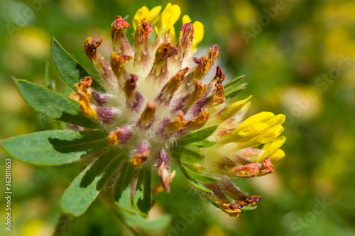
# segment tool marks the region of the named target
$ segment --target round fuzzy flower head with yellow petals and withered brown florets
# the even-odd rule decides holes
[[[175,169],[180,169],[213,206],[238,216],[261,197],[243,193],[231,178],[273,173],[273,164],[285,155],[280,150],[285,137],[279,137],[285,116],[261,112],[245,118],[251,96],[236,98],[244,89],[245,84],[239,84],[243,77],[225,84],[219,67],[204,84],[219,47],[212,45],[202,57],[193,57],[204,27],[185,15],[175,35],[179,18],[180,7],[172,4],[151,10],[143,6],[132,24],[116,16],[109,60],[99,52],[102,38],[85,41],[84,52],[101,74],[102,85],[82,77],[70,98],[96,126],[72,124],[85,127],[79,128],[83,132],[104,133],[102,156],[85,172],[102,168],[102,176],[119,173],[116,205],[141,214],[150,208],[151,172],[169,192]],[[132,32],[130,44],[126,33]],[[147,206],[140,204],[144,199]]]

